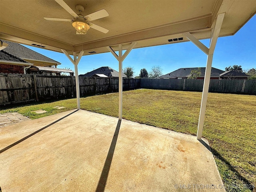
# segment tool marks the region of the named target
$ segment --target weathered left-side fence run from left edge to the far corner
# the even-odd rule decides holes
[[[80,96],[118,91],[118,78],[79,77]],[[140,79],[123,79],[123,89],[140,87]],[[76,97],[73,76],[0,74],[0,105],[48,98]]]

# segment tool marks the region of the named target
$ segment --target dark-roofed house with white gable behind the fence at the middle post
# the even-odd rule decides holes
[[[118,71],[110,67],[100,67],[84,75],[79,75],[80,77],[118,77]],[[123,78],[127,78],[126,74],[122,73]]]

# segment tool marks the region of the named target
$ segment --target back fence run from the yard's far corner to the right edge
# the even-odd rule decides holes
[[[203,79],[141,79],[141,88],[202,91]],[[209,92],[256,94],[256,80],[211,79]]]

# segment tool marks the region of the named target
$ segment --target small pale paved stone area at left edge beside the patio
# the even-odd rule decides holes
[[[23,116],[22,114],[17,112],[3,113],[0,114],[0,128],[24,122],[26,120],[30,120],[30,118]]]

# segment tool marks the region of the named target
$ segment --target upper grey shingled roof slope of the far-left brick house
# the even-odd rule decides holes
[[[42,62],[52,62],[52,63],[56,63],[56,64],[61,64],[58,61],[48,58],[38,52],[35,52],[29,48],[26,48],[25,46],[22,46],[18,43],[5,41],[5,40],[2,40],[2,42],[9,44],[8,47],[4,48],[5,52],[12,54],[13,56],[16,56],[18,58],[21,58],[23,60],[37,60],[37,61],[42,61]]]

